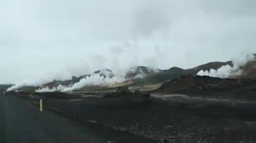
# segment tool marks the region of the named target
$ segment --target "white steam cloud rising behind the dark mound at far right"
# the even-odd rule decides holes
[[[225,66],[221,66],[220,68],[218,68],[218,70],[200,70],[197,75],[220,78],[236,77],[243,73],[243,66],[245,66],[248,62],[252,62],[255,60],[256,58],[254,54],[249,54],[247,56],[238,56],[234,60],[232,60],[233,66],[227,64]]]

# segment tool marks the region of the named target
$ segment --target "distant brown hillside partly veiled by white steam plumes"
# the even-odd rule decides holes
[[[53,89],[58,87],[59,85],[63,87],[71,87],[72,85],[82,81],[82,79],[86,81],[86,79],[90,79],[94,75],[98,75],[99,77],[102,77],[103,80],[113,80],[115,78],[117,79],[117,76],[119,76],[118,78],[120,78],[121,76],[121,78],[123,78],[123,81],[121,81],[120,83],[120,80],[119,80],[119,83],[115,83],[114,85],[90,85],[90,84],[84,85],[82,87],[75,89],[75,91],[95,91],[95,90],[98,91],[98,90],[109,89],[113,87],[116,88],[124,85],[133,86],[133,87],[136,87],[136,86],[143,87],[146,85],[161,84],[181,76],[197,75],[197,73],[200,70],[218,69],[221,66],[225,66],[227,64],[232,66],[231,61],[209,62],[207,64],[203,64],[200,66],[196,66],[195,68],[189,68],[189,69],[183,69],[183,68],[174,66],[166,70],[160,70],[160,69],[149,68],[147,66],[134,66],[132,68],[129,68],[127,73],[122,73],[121,75],[115,75],[115,73],[113,73],[113,71],[110,69],[102,69],[102,70],[97,70],[92,74],[86,74],[80,77],[72,77],[71,79],[66,81],[51,81],[49,83],[45,83],[41,85],[40,87],[22,87],[19,90],[35,91],[38,88]],[[255,70],[255,68],[251,68],[250,65],[248,65],[246,68]],[[254,76],[253,71],[250,70],[247,73],[247,75],[248,77]]]

